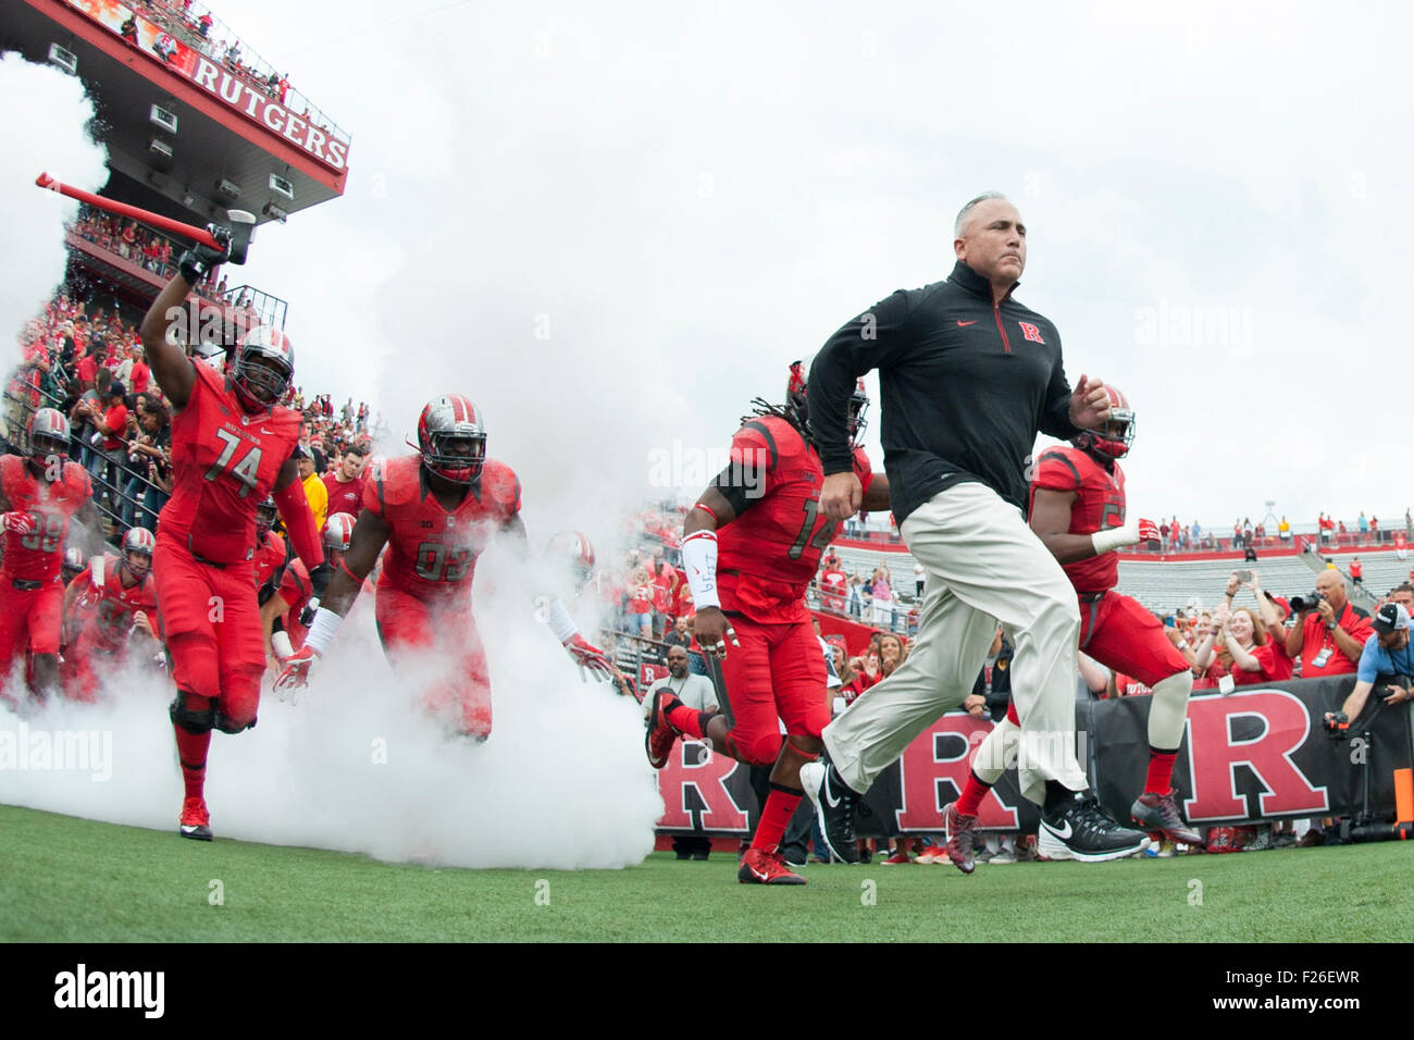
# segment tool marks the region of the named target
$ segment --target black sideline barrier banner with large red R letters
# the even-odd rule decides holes
[[[1410,710],[1370,713],[1350,727],[1352,740],[1332,743],[1321,724],[1340,706],[1353,676],[1247,688],[1232,696],[1195,696],[1174,770],[1184,811],[1193,824],[1240,824],[1277,816],[1353,815],[1360,805],[1359,770],[1369,768],[1370,805],[1394,811],[1393,771],[1411,764]],[[1077,758],[1100,801],[1118,819],[1144,787],[1151,698],[1076,706]],[[943,808],[967,782],[973,756],[991,723],[953,713],[939,719],[885,770],[855,819],[861,836],[939,832]],[[755,826],[756,795],[747,768],[721,756],[699,763],[700,744],[677,744],[659,774],[667,805],[665,831],[744,833]],[[1015,770],[983,799],[987,829],[1034,831],[1036,807],[1024,799]]]

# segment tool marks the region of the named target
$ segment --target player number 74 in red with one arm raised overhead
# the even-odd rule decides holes
[[[143,344],[171,402],[173,494],[163,507],[153,552],[157,604],[177,698],[170,715],[185,799],[178,833],[211,840],[206,753],[211,732],[240,733],[256,723],[264,645],[252,580],[256,509],[273,492],[286,531],[317,590],[328,583],[294,449],[300,415],[280,402],[294,378],[294,348],[277,328],[240,337],[225,374],[194,364],[174,325],[192,286],[229,256],[192,246],[143,318]],[[195,334],[195,330],[191,330]]]

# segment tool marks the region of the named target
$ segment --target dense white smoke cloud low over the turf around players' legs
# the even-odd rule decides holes
[[[421,710],[420,691],[444,664],[430,658],[395,675],[365,597],[293,705],[267,688],[253,730],[212,737],[206,802],[218,839],[566,870],[622,867],[652,850],[662,801],[643,760],[641,709],[607,685],[581,683],[506,580],[505,557],[492,550],[484,563],[477,621],[491,665],[491,739],[448,737]],[[112,734],[110,763],[20,768],[0,757],[0,801],[175,832],[182,784],[170,698],[164,681],[127,671],[103,703],[52,702],[27,712],[24,730],[0,709],[0,741],[6,732],[54,746],[65,732]]]

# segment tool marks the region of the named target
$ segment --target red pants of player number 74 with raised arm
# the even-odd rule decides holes
[[[236,726],[255,722],[266,658],[250,565],[199,563],[158,533],[153,582],[177,689],[211,698]]]

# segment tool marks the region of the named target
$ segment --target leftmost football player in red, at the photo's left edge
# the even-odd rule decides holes
[[[28,457],[0,456],[0,685],[28,649],[30,692],[41,699],[59,688],[59,573],[69,519],[98,526],[89,475],[68,451],[69,420],[41,408],[30,417]]]

